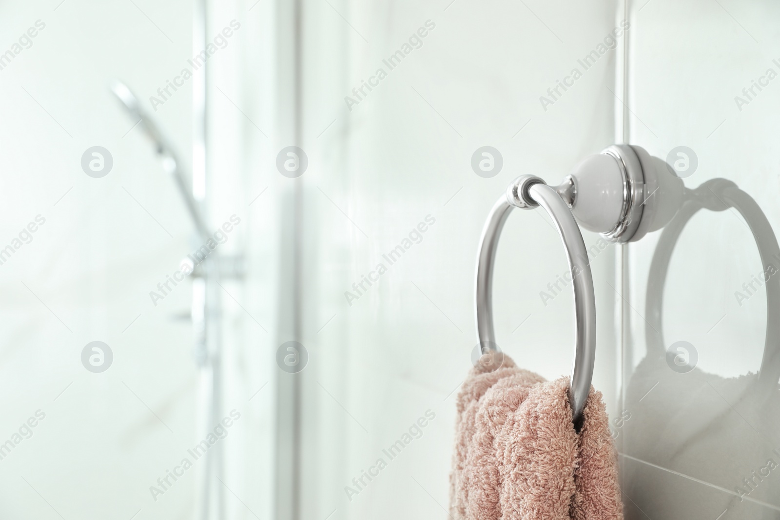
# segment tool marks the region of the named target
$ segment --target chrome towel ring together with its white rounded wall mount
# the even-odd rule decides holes
[[[672,167],[642,147],[614,144],[601,154],[585,157],[560,186],[547,186],[534,175],[519,176],[495,203],[482,229],[477,256],[477,335],[480,351],[489,360],[483,363],[488,370],[496,370],[502,359],[493,331],[493,262],[509,212],[514,207],[541,206],[561,235],[574,286],[576,350],[569,403],[576,430],[582,423],[596,355],[593,276],[577,223],[618,243],[634,242],[663,228],[675,216],[685,192],[683,180],[672,172]]]

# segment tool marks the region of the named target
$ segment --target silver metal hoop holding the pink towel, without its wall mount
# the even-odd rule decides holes
[[[558,187],[566,189],[567,184]],[[574,307],[576,314],[576,350],[572,378],[569,385],[569,403],[573,412],[573,423],[580,430],[585,401],[590,392],[596,355],[596,299],[593,276],[590,274],[587,250],[580,227],[574,220],[568,204],[562,199],[558,189],[548,186],[544,180],[534,175],[521,175],[498,199],[482,229],[480,248],[477,256],[477,334],[483,354],[491,359],[491,370],[498,369],[500,361],[495,363],[496,353],[500,353],[495,343],[493,329],[493,265],[498,249],[498,236],[515,207],[533,209],[541,206],[548,212],[555,228],[561,235],[563,247],[569,260],[569,270],[573,278]]]

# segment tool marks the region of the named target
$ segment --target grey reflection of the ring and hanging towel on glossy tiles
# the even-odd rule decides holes
[[[721,377],[697,368],[701,352],[667,345],[662,306],[669,260],[697,211],[733,208],[756,240],[768,320],[757,373]],[[626,518],[780,518],[780,249],[769,221],[727,179],[686,189],[655,249],[647,282],[647,355],[629,380],[621,423],[623,486],[636,508]],[[752,292],[751,292],[752,294]],[[740,345],[733,355],[739,356]],[[637,511],[639,510],[639,511]],[[720,515],[720,516],[718,516]]]

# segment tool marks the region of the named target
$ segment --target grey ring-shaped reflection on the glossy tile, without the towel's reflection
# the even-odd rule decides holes
[[[758,373],[757,390],[768,395],[776,390],[780,379],[780,320],[773,320],[780,311],[780,246],[775,232],[753,197],[739,189],[728,179],[711,179],[696,189],[686,189],[682,205],[672,221],[666,225],[658,239],[650,272],[648,274],[645,309],[650,327],[645,328],[648,356],[664,356],[663,300],[669,262],[677,240],[686,224],[697,211],[706,208],[723,211],[733,207],[747,222],[764,272],[767,291],[767,331],[764,342],[764,356]],[[767,276],[770,267],[774,272]]]

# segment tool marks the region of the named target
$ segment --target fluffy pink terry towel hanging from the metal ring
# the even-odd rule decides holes
[[[450,475],[455,520],[622,520],[617,459],[601,392],[576,433],[569,378],[545,381],[504,356],[472,369],[458,395]]]

